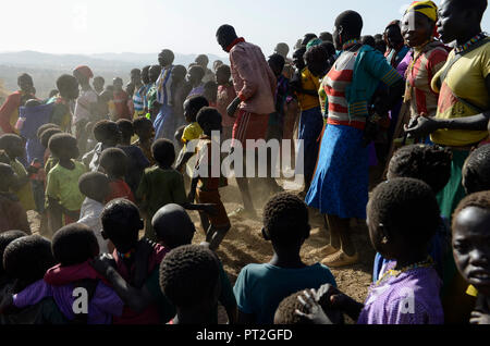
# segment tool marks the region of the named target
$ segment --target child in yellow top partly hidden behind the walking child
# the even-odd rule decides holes
[[[188,160],[195,155],[195,151],[187,150],[187,144],[191,140],[199,139],[203,135],[203,128],[200,128],[197,123],[197,113],[204,108],[208,107],[209,102],[204,96],[196,96],[185,100],[184,102],[184,116],[187,123],[189,123],[182,134],[181,141],[184,145],[184,148],[181,150],[181,155],[179,155],[180,161],[176,162],[176,170],[179,172],[185,173],[184,168],[187,164]]]

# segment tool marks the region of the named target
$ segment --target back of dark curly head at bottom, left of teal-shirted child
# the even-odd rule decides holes
[[[220,292],[218,260],[204,246],[177,247],[160,264],[160,287],[177,309],[212,308]]]

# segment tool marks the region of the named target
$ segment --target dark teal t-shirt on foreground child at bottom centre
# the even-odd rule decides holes
[[[248,264],[240,272],[233,292],[241,311],[254,314],[259,324],[272,324],[275,310],[285,297],[323,284],[336,286],[330,270],[320,263],[301,269]]]

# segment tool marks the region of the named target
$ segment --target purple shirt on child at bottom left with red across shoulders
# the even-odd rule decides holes
[[[25,308],[39,302],[46,297],[53,297],[64,317],[69,320],[73,320],[75,319],[75,313],[73,312],[72,307],[75,298],[77,298],[73,297],[73,284],[51,286],[44,280],[39,280],[14,295],[13,302],[17,308]],[[112,316],[120,317],[123,307],[124,302],[115,292],[102,282],[99,282],[94,293],[94,297],[88,304],[87,323],[111,324]]]

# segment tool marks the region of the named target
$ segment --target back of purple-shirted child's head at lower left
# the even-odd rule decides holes
[[[61,227],[52,237],[52,254],[61,265],[81,264],[99,255],[94,232],[82,223]]]

